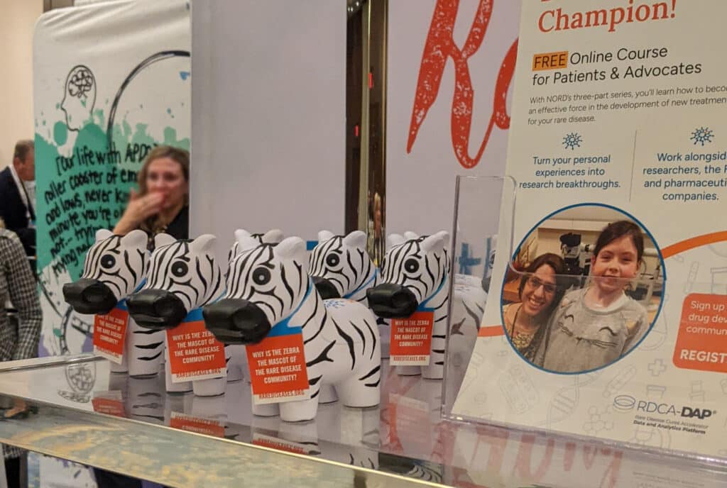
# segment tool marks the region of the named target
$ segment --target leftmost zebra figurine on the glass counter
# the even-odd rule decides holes
[[[125,298],[140,288],[146,277],[149,256],[147,236],[141,230],[113,235],[96,232],[96,242],[86,253],[81,279],[63,285],[65,301],[80,314],[108,314],[125,307]],[[131,376],[156,375],[164,351],[164,333],[141,328],[129,317],[121,365],[111,363],[113,373]]]

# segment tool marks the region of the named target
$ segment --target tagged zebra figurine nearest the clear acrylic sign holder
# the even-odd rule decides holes
[[[366,292],[369,306],[379,317],[403,319],[427,306],[433,309],[434,323],[430,363],[420,367],[398,367],[402,374],[421,371],[422,378],[440,380],[444,357],[449,306],[449,233],[414,237],[388,237],[389,249],[383,261],[381,283]],[[418,370],[418,371],[417,371]]]

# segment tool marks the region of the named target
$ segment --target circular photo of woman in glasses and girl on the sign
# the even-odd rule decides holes
[[[661,251],[633,216],[593,203],[563,208],[515,251],[502,288],[505,334],[542,370],[598,370],[646,337],[665,278]]]

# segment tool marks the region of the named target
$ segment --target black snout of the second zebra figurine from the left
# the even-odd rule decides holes
[[[156,330],[177,327],[188,313],[180,298],[166,290],[141,290],[126,299],[126,306],[137,324]]]

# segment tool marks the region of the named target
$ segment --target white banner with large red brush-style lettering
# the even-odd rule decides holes
[[[389,2],[387,232],[451,232],[455,177],[505,173],[519,20],[518,1]],[[488,243],[460,237],[457,272],[482,277]]]

